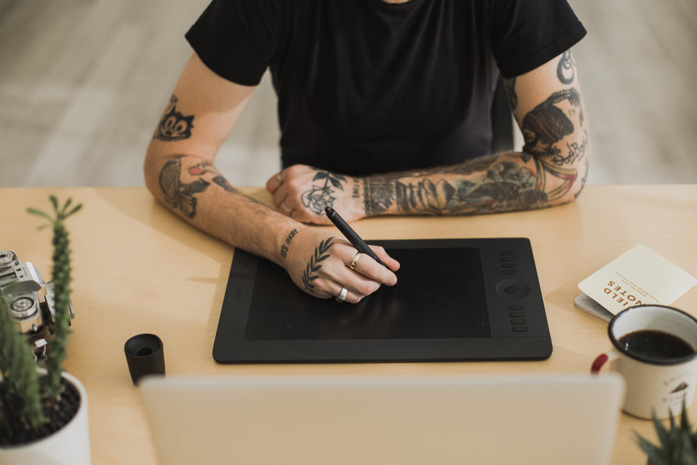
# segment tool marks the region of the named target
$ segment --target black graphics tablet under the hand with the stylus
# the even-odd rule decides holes
[[[551,355],[528,239],[370,243],[400,262],[398,282],[355,305],[305,294],[283,268],[236,250],[213,358],[330,363]]]

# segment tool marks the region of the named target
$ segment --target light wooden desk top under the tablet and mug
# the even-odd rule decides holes
[[[270,201],[263,189],[247,190]],[[0,188],[0,249],[50,273],[50,231],[26,207],[72,196],[84,211],[68,222],[75,320],[66,369],[86,386],[93,462],[151,464],[155,455],[128,374],[123,344],[155,333],[168,374],[588,372],[609,349],[606,323],[574,307],[581,280],[643,243],[697,276],[697,185],[590,186],[578,201],[544,211],[459,218],[376,218],[354,224],[367,239],[530,238],[554,351],[548,360],[498,363],[217,365],[213,338],[233,249],[187,226],[143,188]],[[697,289],[675,303],[697,316]],[[697,418],[697,402],[691,406]],[[569,421],[573,421],[569,418]],[[650,421],[622,414],[613,464],[643,464],[633,431]],[[592,445],[588,445],[592,447]]]

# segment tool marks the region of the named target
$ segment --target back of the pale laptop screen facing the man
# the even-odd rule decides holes
[[[616,374],[167,376],[140,393],[162,464],[608,464]]]

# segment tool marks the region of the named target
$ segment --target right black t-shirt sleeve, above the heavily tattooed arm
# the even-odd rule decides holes
[[[493,56],[503,77],[534,70],[571,48],[585,28],[566,0],[489,0]]]

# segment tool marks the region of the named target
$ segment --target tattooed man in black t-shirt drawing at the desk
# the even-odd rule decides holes
[[[213,0],[145,161],[153,195],[182,218],[284,267],[319,298],[356,303],[397,281],[328,224],[372,215],[470,215],[575,199],[588,117],[567,0]],[[278,97],[276,209],[215,168],[266,70]],[[498,77],[524,138],[492,153]]]

